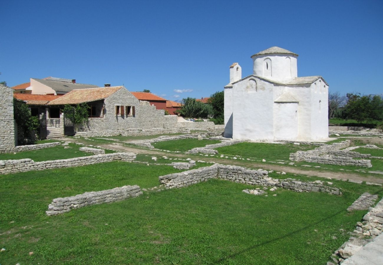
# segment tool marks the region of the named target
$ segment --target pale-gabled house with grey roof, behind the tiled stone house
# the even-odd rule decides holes
[[[79,84],[75,79],[46,77],[31,78],[30,82],[12,87],[13,93],[36,95],[65,95],[74,89],[93,88],[97,85]]]

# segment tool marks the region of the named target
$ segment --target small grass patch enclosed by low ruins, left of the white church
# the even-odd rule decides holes
[[[173,141],[154,142],[152,146],[161,150],[186,152],[195,147],[203,147],[208,144],[218,144],[218,140],[180,139]]]

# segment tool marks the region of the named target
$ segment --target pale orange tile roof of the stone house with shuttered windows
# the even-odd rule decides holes
[[[102,100],[116,93],[121,88],[126,89],[123,86],[74,89],[52,100],[48,105],[79,104]]]

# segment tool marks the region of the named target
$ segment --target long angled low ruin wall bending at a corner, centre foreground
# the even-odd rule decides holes
[[[267,170],[252,170],[244,167],[219,164],[160,176],[159,180],[167,189],[170,189],[186,187],[199,182],[204,182],[211,178],[222,178],[232,182],[250,185],[277,186],[298,192],[320,191],[334,195],[342,194],[338,188],[325,186],[320,181],[301,182],[291,178],[278,180],[268,177]]]

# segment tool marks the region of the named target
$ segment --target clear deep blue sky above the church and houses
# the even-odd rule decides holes
[[[1,1],[0,80],[48,76],[209,97],[271,46],[331,92],[383,93],[383,1]]]

